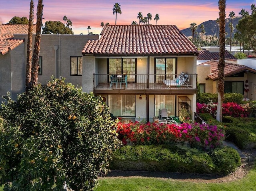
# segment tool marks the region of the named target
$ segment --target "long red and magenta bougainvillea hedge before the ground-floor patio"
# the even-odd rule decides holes
[[[193,147],[216,148],[224,139],[224,132],[221,128],[198,123],[174,125],[119,122],[117,133],[124,145],[127,144],[127,140],[142,145],[188,141]]]

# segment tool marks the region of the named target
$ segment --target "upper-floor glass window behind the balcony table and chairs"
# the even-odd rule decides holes
[[[110,58],[108,59],[109,74],[127,75],[128,82],[135,82],[136,58]]]

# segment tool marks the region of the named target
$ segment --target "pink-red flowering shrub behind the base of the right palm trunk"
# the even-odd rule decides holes
[[[216,116],[217,104],[212,103],[196,103],[196,112],[198,113],[210,113],[212,116]],[[234,102],[228,102],[222,104],[222,115],[231,117],[248,117],[250,114],[249,104],[236,104]]]

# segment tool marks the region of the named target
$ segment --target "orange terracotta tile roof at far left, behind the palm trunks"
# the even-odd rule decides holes
[[[27,33],[28,25],[26,24],[0,24],[0,53],[4,55],[24,42],[24,39],[14,39],[14,34]],[[33,33],[36,33],[36,25]]]

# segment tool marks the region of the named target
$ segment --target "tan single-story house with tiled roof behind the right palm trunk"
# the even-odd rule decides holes
[[[241,93],[245,98],[256,100],[256,63],[255,67],[248,67],[238,63],[252,63],[251,60],[225,60],[225,93]],[[200,91],[205,93],[217,93],[218,60],[210,60],[197,65],[198,83]],[[249,90],[246,91],[246,83]]]

